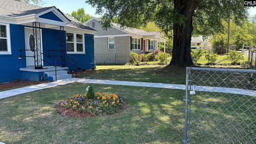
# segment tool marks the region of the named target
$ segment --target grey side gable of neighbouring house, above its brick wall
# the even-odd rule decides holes
[[[92,27],[92,22],[95,22],[95,27]],[[87,26],[97,30],[97,33],[95,33],[94,35],[99,35],[99,36],[103,36],[103,35],[124,35],[127,34],[122,30],[116,29],[116,28],[109,28],[108,30],[105,30],[102,28],[101,23],[98,20],[92,19],[88,22],[85,23]]]

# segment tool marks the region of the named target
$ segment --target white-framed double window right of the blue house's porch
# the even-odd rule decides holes
[[[66,34],[67,53],[85,53],[83,34]]]

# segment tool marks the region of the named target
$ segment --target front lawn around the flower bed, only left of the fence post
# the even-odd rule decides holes
[[[121,113],[90,118],[57,114],[60,100],[84,93],[74,83],[0,99],[0,141],[5,143],[182,143],[185,91],[93,85],[116,93],[129,107]]]

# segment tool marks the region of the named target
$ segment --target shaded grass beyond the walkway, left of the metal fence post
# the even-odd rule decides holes
[[[79,73],[79,78],[109,79],[118,81],[185,84],[185,68],[165,69],[159,65],[97,66],[97,73]]]

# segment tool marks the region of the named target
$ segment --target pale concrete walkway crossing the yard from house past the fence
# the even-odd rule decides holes
[[[31,85],[26,87],[21,87],[19,89],[7,90],[0,92],[0,99],[12,97],[14,95],[33,92],[37,90],[47,89],[49,87],[54,87],[58,85],[65,85],[70,83],[91,83],[91,84],[110,84],[110,85],[127,85],[127,86],[143,86],[143,87],[155,87],[163,89],[175,89],[175,90],[185,90],[186,86],[181,84],[164,84],[164,83],[146,83],[146,82],[128,82],[128,81],[110,81],[110,80],[100,80],[100,79],[84,79],[84,78],[67,78],[61,79],[57,82],[44,83],[38,85]],[[206,92],[221,92],[221,93],[231,93],[231,94],[243,94],[256,97],[256,91],[243,90],[243,89],[232,89],[226,87],[209,87],[209,86],[193,86],[195,91],[206,91]]]

